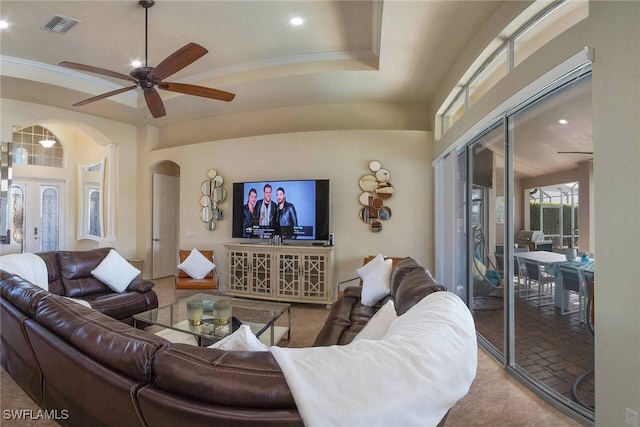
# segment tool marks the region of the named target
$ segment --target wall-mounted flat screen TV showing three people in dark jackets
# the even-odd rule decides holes
[[[234,182],[232,235],[327,240],[329,180]]]

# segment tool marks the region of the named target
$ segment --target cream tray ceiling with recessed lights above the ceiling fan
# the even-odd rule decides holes
[[[500,3],[158,0],[148,10],[149,65],[196,42],[209,53],[165,80],[222,89],[236,98],[226,103],[161,91],[167,116],[150,119],[137,89],[138,96],[131,91],[77,110],[163,128],[292,106],[375,102],[426,108],[462,49]],[[73,103],[130,82],[105,82],[58,63],[128,74],[131,60],[144,60],[145,9],[136,0],[3,0],[0,14],[10,22],[2,30],[1,45],[5,98],[76,109]],[[42,30],[56,14],[80,24],[64,35]],[[304,25],[291,26],[293,16],[304,18]]]

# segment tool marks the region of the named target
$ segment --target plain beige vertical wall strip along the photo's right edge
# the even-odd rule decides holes
[[[592,4],[596,422],[640,410],[640,2]],[[597,24],[597,25],[595,25]],[[631,190],[631,191],[630,191]]]

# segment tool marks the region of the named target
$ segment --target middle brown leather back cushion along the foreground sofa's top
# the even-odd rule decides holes
[[[53,294],[39,301],[35,319],[81,353],[140,382],[149,382],[153,357],[168,345],[152,333]]]

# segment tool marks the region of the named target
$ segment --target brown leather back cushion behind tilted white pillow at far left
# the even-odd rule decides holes
[[[86,295],[110,293],[111,289],[91,275],[111,248],[90,251],[59,251],[58,263],[64,287],[64,295],[81,298]]]

